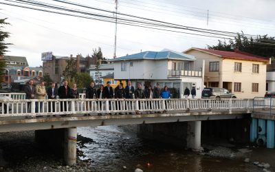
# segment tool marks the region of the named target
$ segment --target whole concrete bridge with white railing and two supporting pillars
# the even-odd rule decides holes
[[[0,107],[9,109],[1,108],[0,132],[36,130],[37,141],[63,149],[67,165],[76,163],[77,127],[187,121],[188,145],[200,149],[202,120],[244,118],[267,104],[265,99],[14,99],[0,100]]]

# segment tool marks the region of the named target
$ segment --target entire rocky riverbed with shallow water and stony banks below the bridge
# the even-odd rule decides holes
[[[75,166],[64,166],[60,157],[36,144],[34,131],[0,133],[0,171],[275,171],[274,149],[210,140],[195,153],[140,140],[135,131],[121,127],[78,131]]]

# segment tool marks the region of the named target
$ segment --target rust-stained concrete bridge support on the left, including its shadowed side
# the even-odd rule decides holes
[[[43,147],[52,149],[56,155],[63,157],[65,165],[76,164],[76,127],[36,130],[35,138]]]

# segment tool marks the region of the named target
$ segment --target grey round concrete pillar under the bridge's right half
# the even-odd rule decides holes
[[[187,147],[195,151],[201,150],[201,121],[189,121],[187,129]]]

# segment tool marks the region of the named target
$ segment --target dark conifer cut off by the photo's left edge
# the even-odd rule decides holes
[[[10,33],[9,32],[5,32],[3,31],[3,25],[9,25],[10,23],[6,23],[5,19],[0,19],[0,56],[3,56],[5,54],[5,52],[8,52],[8,45],[12,45],[11,43],[5,43],[5,39],[7,39],[8,37],[10,37]],[[5,74],[5,61],[3,58],[0,58],[0,78],[3,77],[3,75]]]

